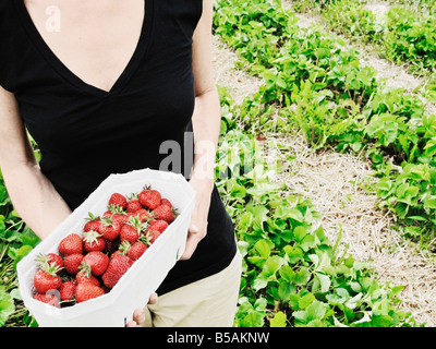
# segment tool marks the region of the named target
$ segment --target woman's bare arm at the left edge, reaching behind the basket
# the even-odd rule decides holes
[[[0,168],[14,208],[41,239],[71,209],[41,173],[13,94],[0,87]]]

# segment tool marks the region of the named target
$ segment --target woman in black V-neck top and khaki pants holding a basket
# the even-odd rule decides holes
[[[196,192],[186,250],[129,326],[229,326],[234,316],[241,260],[214,184],[211,19],[213,0],[0,2],[0,167],[41,239],[110,173],[161,169],[160,146],[181,148],[171,170]]]

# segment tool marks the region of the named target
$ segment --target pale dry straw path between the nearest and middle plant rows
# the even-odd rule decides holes
[[[216,81],[240,103],[256,92],[261,81],[234,69],[235,55],[214,40]],[[286,145],[287,153],[269,148],[269,157],[282,164],[277,180],[314,203],[323,214],[323,227],[331,241],[341,231],[342,249],[361,261],[370,261],[382,282],[402,285],[402,308],[417,323],[436,325],[436,266],[419,246],[401,239],[392,229],[392,217],[377,208],[377,197],[362,189],[372,171],[359,156],[332,151],[313,152],[303,135],[268,134]],[[289,160],[289,155],[294,159]]]

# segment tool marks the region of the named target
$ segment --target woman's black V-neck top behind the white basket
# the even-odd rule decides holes
[[[159,149],[166,141],[181,151],[180,161],[168,170],[189,178],[192,163],[185,161],[184,151],[193,149],[192,36],[202,9],[202,0],[145,0],[137,47],[105,92],[63,65],[23,0],[0,1],[0,85],[14,94],[40,148],[41,171],[72,209],[110,173],[159,169],[169,156]],[[191,260],[177,263],[159,294],[231,262],[237,251],[233,226],[216,188],[208,218],[206,238]]]

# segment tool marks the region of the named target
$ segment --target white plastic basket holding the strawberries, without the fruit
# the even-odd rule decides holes
[[[109,293],[68,308],[55,308],[33,299],[35,258],[39,253],[58,253],[69,233],[83,231],[88,213],[102,214],[113,192],[129,195],[150,184],[171,201],[179,216],[136,261]],[[148,302],[168,272],[183,254],[194,207],[195,192],[183,176],[152,169],[109,176],[55,231],[17,264],[20,292],[25,306],[41,327],[120,327],[137,308]]]

